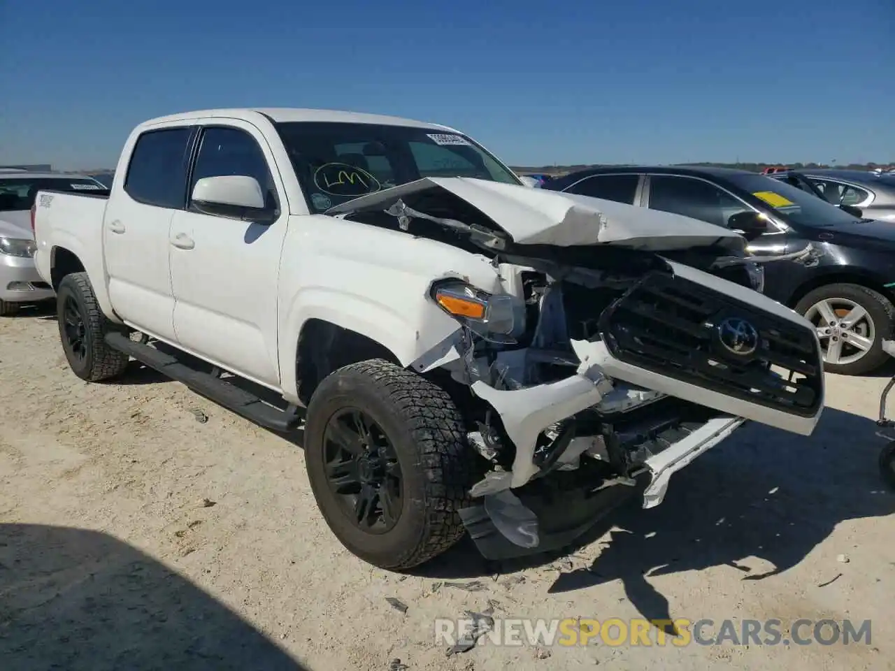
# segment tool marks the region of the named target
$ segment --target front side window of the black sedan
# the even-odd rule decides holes
[[[724,227],[733,215],[753,211],[712,183],[665,174],[650,177],[650,208]]]

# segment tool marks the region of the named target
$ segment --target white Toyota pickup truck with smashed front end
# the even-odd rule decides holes
[[[808,435],[823,410],[814,329],[753,290],[740,235],[527,188],[445,126],[167,116],[107,198],[41,191],[33,217],[77,376],[131,357],[304,421],[329,527],[389,569],[465,530],[492,558],[566,545],[744,420]]]

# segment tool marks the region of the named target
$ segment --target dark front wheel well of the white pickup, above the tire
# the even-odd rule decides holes
[[[298,397],[309,403],[314,389],[329,373],[358,361],[384,359],[400,365],[388,347],[370,337],[323,319],[308,319],[295,352]]]

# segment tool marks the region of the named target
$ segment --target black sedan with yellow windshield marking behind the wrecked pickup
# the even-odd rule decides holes
[[[660,209],[743,232],[755,255],[814,242],[819,263],[765,267],[764,293],[814,323],[825,369],[863,375],[888,360],[895,318],[895,226],[857,217],[812,193],[743,170],[695,166],[592,168],[543,185]]]

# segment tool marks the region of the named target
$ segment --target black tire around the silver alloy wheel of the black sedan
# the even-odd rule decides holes
[[[882,350],[882,341],[889,340],[892,337],[893,322],[895,322],[895,306],[882,293],[869,289],[866,286],[835,284],[820,286],[806,293],[797,302],[795,310],[800,315],[807,316],[809,311],[818,303],[823,301],[835,302],[837,299],[855,303],[866,310],[867,315],[873,322],[874,339],[870,349],[855,361],[831,363],[826,361],[826,357],[824,357],[823,369],[840,375],[866,375],[879,369],[890,358]],[[826,338],[821,341],[824,352],[826,352],[828,342],[829,339]]]

